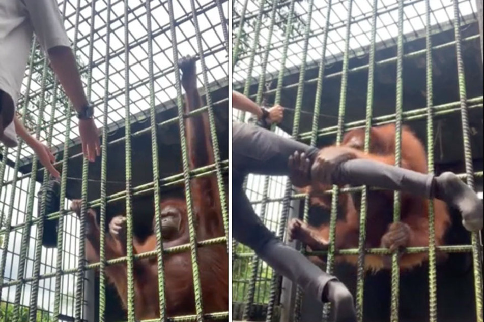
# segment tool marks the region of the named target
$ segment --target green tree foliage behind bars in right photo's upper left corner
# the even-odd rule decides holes
[[[296,3],[304,3],[307,0],[295,0]],[[271,8],[272,8],[272,0],[264,0],[263,4],[263,13],[262,13],[262,23],[263,25],[269,25],[271,19]],[[284,35],[286,34],[286,24],[290,14],[290,3],[284,2],[283,5],[276,9],[276,15],[274,20],[274,34],[278,34],[281,39],[284,39]],[[243,5],[240,3],[234,4],[233,6],[233,17],[240,17],[242,15]],[[247,13],[246,13],[247,15]],[[239,56],[244,56],[250,53],[251,46],[253,42],[253,37],[251,33],[248,33],[246,30],[254,30],[255,25],[257,24],[257,15],[250,17],[249,19],[245,20],[244,29],[241,30],[240,34],[240,45],[239,45]],[[306,27],[306,20],[304,19],[304,15],[300,15],[295,13],[295,19],[293,19],[292,29],[290,38],[295,38],[303,35],[303,30]],[[237,39],[237,35],[239,34],[239,27],[236,27],[236,30],[233,33],[234,44],[235,39]],[[264,48],[261,46],[260,43],[256,44],[257,51],[263,51]]]

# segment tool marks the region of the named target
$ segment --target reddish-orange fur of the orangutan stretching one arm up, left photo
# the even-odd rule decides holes
[[[188,76],[195,77],[194,75],[196,73]],[[185,75],[183,76],[185,77]],[[183,79],[182,83],[186,91],[185,112],[188,113],[200,108],[201,98],[196,91],[196,87],[193,88],[187,85],[183,82]],[[214,159],[207,112],[204,112],[202,115],[199,114],[189,117],[186,120],[186,136],[190,168],[195,169],[213,164]],[[194,178],[190,182],[196,237],[199,242],[224,235],[220,196],[216,180],[215,175],[209,175]],[[163,248],[166,249],[189,243],[187,205],[185,200],[169,199],[160,203],[161,209],[166,206],[177,208],[182,216],[178,235],[172,240],[163,242]],[[88,236],[94,249],[99,249],[99,240],[98,238],[96,240],[95,236],[99,236],[99,228],[97,228],[96,232]],[[107,259],[125,256],[125,248],[123,249],[120,246],[119,241],[110,235],[107,237]],[[153,251],[156,249],[156,244],[157,239],[155,235],[149,236],[143,242],[134,238],[133,252],[136,254]],[[228,311],[229,258],[226,246],[219,244],[198,248],[197,263],[200,272],[204,313]],[[167,316],[173,317],[195,314],[194,283],[190,251],[187,250],[181,253],[164,255],[163,265]],[[123,305],[126,308],[126,264],[109,266],[106,269],[106,275],[117,288]],[[159,318],[158,261],[156,257],[134,262],[134,291],[136,319]]]

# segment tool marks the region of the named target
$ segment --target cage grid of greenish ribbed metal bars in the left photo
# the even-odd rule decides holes
[[[196,259],[199,246],[226,243],[227,205],[223,189],[222,173],[227,171],[227,160],[220,160],[215,136],[214,112],[223,101],[212,102],[211,92],[227,85],[228,56],[226,20],[228,3],[226,0],[190,3],[181,0],[170,1],[116,1],[116,0],[67,0],[59,2],[64,17],[67,34],[73,43],[79,70],[87,89],[88,99],[95,106],[95,122],[102,128],[102,170],[101,195],[87,203],[89,166],[86,160],[82,165],[82,200],[80,220],[68,209],[66,186],[68,161],[82,155],[68,155],[69,148],[80,143],[79,134],[71,105],[59,83],[48,68],[48,60],[34,42],[29,66],[26,68],[18,112],[24,124],[36,137],[52,148],[54,154],[63,152],[61,211],[48,214],[48,220],[59,219],[58,251],[44,248],[40,240],[43,233],[43,218],[34,206],[40,183],[37,172],[48,174],[37,167],[36,157],[30,147],[23,142],[16,148],[2,147],[0,165],[0,198],[2,205],[0,237],[0,287],[2,312],[0,320],[7,321],[13,310],[18,320],[42,321],[76,320],[83,318],[83,279],[84,272],[100,268],[99,317],[104,320],[105,307],[105,266],[127,262],[128,265],[128,320],[134,320],[133,308],[133,260],[139,257],[158,256],[161,261],[166,253],[190,251]],[[171,53],[171,54],[170,54]],[[210,132],[214,145],[215,164],[199,169],[188,168],[186,144],[182,142],[183,173],[165,178],[159,177],[156,133],[157,128],[178,123],[180,135],[184,136],[183,98],[180,85],[178,59],[181,56],[197,56],[197,80],[202,85],[199,90],[206,94],[207,105],[191,112],[188,117],[207,112]],[[175,68],[174,68],[175,66]],[[176,108],[178,116],[156,123],[156,113]],[[130,133],[132,122],[151,119],[148,129]],[[126,135],[117,140],[109,140],[120,128]],[[154,164],[154,181],[141,186],[131,186],[131,138],[150,132]],[[128,138],[128,139],[127,139]],[[182,140],[184,141],[184,140]],[[126,189],[106,196],[107,146],[124,143],[126,146]],[[65,152],[65,153],[64,153]],[[19,168],[31,164],[32,168],[21,173]],[[101,262],[86,264],[83,261],[84,228],[80,224],[86,215],[86,208],[101,206],[101,224],[105,222],[106,204],[125,200],[128,230],[132,231],[132,197],[152,191],[155,201],[160,187],[174,184],[185,185],[187,202],[190,200],[189,180],[194,176],[215,174],[221,196],[225,237],[197,241],[191,234],[190,243],[173,249],[158,249],[133,256],[128,247],[127,258],[105,261],[104,246],[101,247]],[[41,201],[45,209],[45,200]],[[155,203],[159,214],[159,205]],[[191,218],[191,209],[188,210]],[[157,222],[157,224],[159,224]],[[193,223],[190,223],[193,227]],[[101,226],[103,227],[103,226]],[[193,229],[192,229],[193,230]],[[159,231],[159,230],[157,230]],[[128,234],[130,236],[131,234]],[[131,237],[131,236],[130,236]],[[132,242],[128,237],[128,244]],[[159,238],[160,236],[158,236]],[[101,229],[101,241],[104,231]],[[103,245],[103,243],[101,243]],[[197,280],[196,261],[193,261],[196,315],[178,317],[177,320],[202,320],[200,281]],[[159,282],[163,282],[163,271],[159,270]],[[161,319],[165,303],[160,287]],[[5,310],[4,310],[5,308]],[[228,312],[211,314],[213,318],[226,318]],[[207,317],[207,316],[205,316]],[[23,318],[23,319],[22,319]],[[170,317],[172,318],[172,317]]]

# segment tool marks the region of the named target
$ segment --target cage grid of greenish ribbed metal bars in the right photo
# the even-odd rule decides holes
[[[468,111],[482,109],[482,96],[466,97],[466,81],[461,48],[473,40],[479,39],[479,34],[461,36],[465,28],[462,26],[477,21],[476,3],[469,0],[454,1],[423,1],[423,0],[332,0],[316,2],[312,0],[234,0],[232,8],[233,16],[233,88],[248,95],[255,102],[261,103],[263,96],[273,96],[271,103],[279,104],[283,91],[293,89],[297,91],[292,124],[292,137],[315,145],[318,139],[330,135],[336,135],[336,142],[340,142],[344,131],[351,128],[364,127],[365,149],[369,147],[369,128],[373,125],[396,122],[400,128],[403,121],[412,119],[426,120],[426,143],[428,148],[429,172],[434,172],[434,118],[438,115],[460,112],[463,119],[463,151],[464,157],[461,163],[465,163],[465,173],[460,178],[474,188],[474,178],[482,178],[482,171],[473,170],[472,154],[469,142]],[[458,23],[455,23],[455,22]],[[431,36],[442,30],[453,30],[455,39],[452,42],[433,45]],[[482,35],[480,35],[482,37]],[[421,50],[405,47],[412,40],[423,38],[426,46]],[[482,42],[482,39],[480,39]],[[391,58],[378,59],[376,57],[376,44],[378,50],[394,48],[397,50]],[[432,84],[432,52],[436,49],[452,47],[456,53],[458,62],[457,77],[459,78],[459,99],[455,102],[445,102],[436,105],[433,100]],[[420,109],[403,110],[402,69],[404,59],[424,55],[426,59],[426,107]],[[476,56],[478,53],[476,52]],[[351,58],[368,59],[367,65],[349,66]],[[434,58],[435,59],[435,58]],[[481,59],[481,57],[480,57]],[[335,63],[343,63],[339,72],[326,74]],[[366,60],[365,60],[366,61]],[[480,61],[481,62],[481,61]],[[373,92],[375,70],[379,66],[388,63],[396,63],[396,102],[395,112],[388,115],[373,115],[374,96]],[[481,65],[482,66],[482,65]],[[310,74],[309,80],[305,78],[306,72],[316,70]],[[345,120],[345,107],[347,102],[348,77],[356,71],[367,71],[368,91],[366,95],[365,118],[348,122]],[[285,79],[290,74],[299,74],[298,81]],[[319,127],[318,118],[324,115],[324,107],[321,107],[321,94],[325,91],[325,81],[330,78],[340,78],[341,86],[337,113],[331,126]],[[266,90],[266,82],[272,84],[272,88]],[[304,92],[304,86],[316,84],[316,92]],[[299,119],[307,109],[302,110],[304,95],[314,95],[314,110],[311,114],[311,131],[299,132]],[[321,112],[321,114],[320,114]],[[247,115],[233,111],[233,120],[247,121]],[[291,126],[291,125],[289,125]],[[277,133],[288,136],[280,129]],[[397,131],[397,151],[400,144],[400,136]],[[461,151],[462,151],[461,150]],[[462,152],[461,152],[462,153]],[[462,154],[461,154],[462,155]],[[400,153],[397,152],[397,164]],[[301,200],[304,203],[304,220],[308,220],[309,201],[303,194],[292,194],[289,182],[280,182],[277,187],[273,184],[268,186],[268,180],[264,176],[248,176],[246,191],[255,211],[264,219],[271,230],[274,230],[279,238],[285,238],[288,213],[291,200]],[[285,186],[285,187],[284,187]],[[254,188],[255,187],[255,188]],[[280,189],[282,188],[282,190]],[[356,307],[358,320],[363,320],[363,258],[364,254],[389,254],[385,249],[364,249],[365,234],[359,236],[357,249],[334,249],[334,226],[336,220],[337,197],[339,193],[362,191],[362,205],[366,205],[366,187],[358,188],[333,188],[328,193],[333,194],[330,225],[330,249],[327,252],[327,271],[331,272],[334,267],[334,256],[337,254],[358,255],[357,283],[356,283]],[[395,194],[398,197],[398,194]],[[395,198],[398,201],[398,198]],[[264,205],[278,204],[280,208],[265,207]],[[394,205],[394,220],[400,216],[400,205]],[[362,206],[360,214],[360,231],[365,231],[365,208]],[[433,220],[433,207],[430,207],[429,218]],[[271,218],[270,221],[267,218]],[[472,234],[469,245],[435,246],[435,232],[430,229],[428,247],[411,247],[407,252],[429,252],[429,319],[437,320],[437,297],[436,297],[436,250],[443,252],[469,252],[472,253],[474,267],[474,288],[476,316],[482,321],[482,244],[479,234]],[[306,255],[321,255],[324,252],[305,252]],[[266,321],[280,318],[276,312],[279,306],[281,278],[274,274],[267,266],[259,263],[257,256],[248,248],[243,247],[236,241],[233,242],[233,303],[242,304],[243,320],[250,319],[257,306],[265,305],[267,311]],[[391,310],[390,320],[399,319],[398,310],[398,264],[396,254],[392,256],[391,270]],[[270,280],[268,296],[261,297],[259,294],[267,294],[266,287]],[[302,292],[298,289],[294,311],[290,313],[291,320],[300,320]],[[285,303],[288,304],[288,303]],[[233,306],[235,307],[235,306]],[[328,318],[329,307],[325,306],[322,312],[323,320]],[[239,312],[240,313],[240,312]],[[234,312],[238,314],[238,312]],[[288,318],[288,316],[286,316]]]

